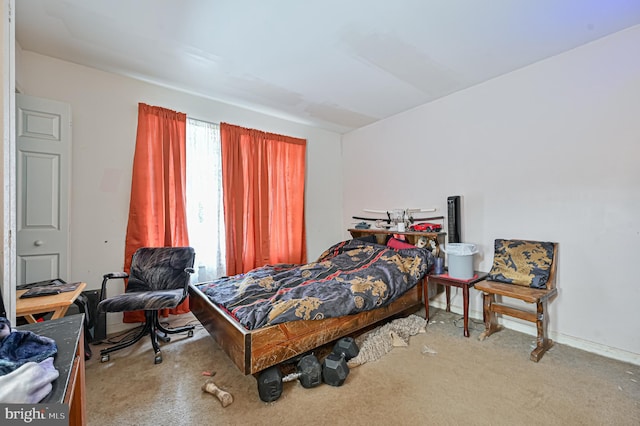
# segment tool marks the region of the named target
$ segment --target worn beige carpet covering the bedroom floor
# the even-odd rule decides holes
[[[419,313],[424,316],[424,311]],[[529,361],[532,336],[503,330],[484,342],[481,325],[464,338],[460,316],[432,309],[427,332],[378,361],[351,370],[344,386],[285,383],[264,403],[201,327],[175,336],[153,364],[148,338],[100,363],[87,362],[89,425],[638,425],[640,367],[556,344]],[[190,315],[170,318],[177,325]],[[201,391],[215,383],[234,402],[223,408]]]

